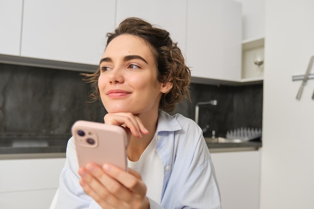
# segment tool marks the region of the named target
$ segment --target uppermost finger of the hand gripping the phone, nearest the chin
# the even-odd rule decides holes
[[[134,176],[131,173],[124,172],[123,170],[107,163],[103,165],[103,169],[109,176],[115,178],[126,188],[140,194],[141,196],[146,195],[147,187],[141,180],[140,176]]]

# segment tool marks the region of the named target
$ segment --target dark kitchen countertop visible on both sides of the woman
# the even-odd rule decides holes
[[[7,136],[0,137],[0,154],[28,154],[28,153],[65,153],[67,142],[71,136]],[[218,142],[205,139],[210,150],[249,148],[258,149],[262,146],[260,140],[248,142]]]

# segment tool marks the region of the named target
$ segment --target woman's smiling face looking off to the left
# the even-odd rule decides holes
[[[157,80],[157,68],[148,45],[123,34],[107,46],[100,61],[98,88],[108,113],[158,111],[169,85]]]

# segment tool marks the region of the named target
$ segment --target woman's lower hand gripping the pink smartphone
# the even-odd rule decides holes
[[[138,172],[89,163],[79,169],[80,184],[102,208],[149,208],[147,187]]]

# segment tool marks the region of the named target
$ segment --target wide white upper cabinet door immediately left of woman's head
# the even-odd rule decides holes
[[[98,65],[115,0],[24,0],[21,56]]]

